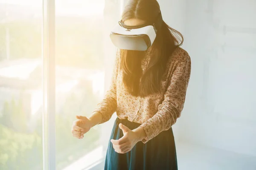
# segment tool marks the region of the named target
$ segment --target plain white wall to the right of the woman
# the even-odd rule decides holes
[[[192,59],[178,139],[256,156],[256,1],[159,1]]]

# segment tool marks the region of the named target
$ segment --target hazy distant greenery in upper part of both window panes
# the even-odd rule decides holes
[[[55,31],[57,65],[100,68],[103,65],[102,28],[96,21],[58,18]],[[6,34],[9,30],[10,59],[39,58],[42,54],[41,20],[0,23],[0,60],[6,58]]]

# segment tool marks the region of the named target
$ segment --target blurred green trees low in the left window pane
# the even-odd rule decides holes
[[[42,139],[37,132],[29,132],[22,100],[13,97],[4,102],[1,115],[0,169],[37,170],[42,165]]]

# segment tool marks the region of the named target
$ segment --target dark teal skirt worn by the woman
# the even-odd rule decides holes
[[[116,118],[110,139],[123,136],[119,123],[133,130],[141,124]],[[116,153],[109,140],[105,170],[177,170],[177,157],[172,128],[162,131],[147,143],[138,142],[131,151]]]

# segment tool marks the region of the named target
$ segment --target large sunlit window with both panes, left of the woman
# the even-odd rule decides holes
[[[50,1],[0,2],[1,170],[90,169],[105,157],[106,134],[112,126],[93,127],[81,140],[73,138],[71,125],[76,115],[89,116],[108,88],[115,57],[109,32],[119,19],[123,3],[46,2]],[[49,13],[49,18],[54,17],[52,27],[43,25],[43,6],[44,10],[55,11],[55,17]],[[49,22],[49,18],[45,20]],[[55,32],[48,39],[55,41],[54,46],[45,42],[45,31]],[[49,53],[55,59],[46,63],[43,52],[48,48],[52,48]],[[55,73],[42,77],[47,64],[54,66]],[[51,77],[54,81],[44,86]],[[44,92],[49,88],[54,95],[46,96]],[[44,103],[51,96],[55,100]],[[43,121],[44,114],[51,114],[50,120]],[[50,147],[44,147],[45,143]],[[49,162],[54,164],[44,165]]]

